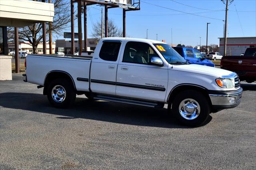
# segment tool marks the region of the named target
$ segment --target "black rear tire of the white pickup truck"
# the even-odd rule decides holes
[[[54,97],[52,97],[52,90],[54,87],[56,87],[56,88],[63,87],[64,88],[64,91],[65,91],[64,96],[65,97],[62,102],[57,102],[56,99],[54,99]],[[74,101],[76,99],[76,92],[75,92],[74,86],[72,85],[72,83],[70,81],[68,81],[67,79],[60,78],[60,79],[55,79],[49,83],[49,85],[47,87],[47,97],[48,97],[49,102],[54,107],[67,108],[67,107],[70,107],[74,103]]]

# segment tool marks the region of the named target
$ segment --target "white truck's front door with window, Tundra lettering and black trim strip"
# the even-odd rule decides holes
[[[150,59],[158,57],[148,43],[126,42],[122,49],[116,78],[116,95],[164,102],[168,65],[151,65]]]

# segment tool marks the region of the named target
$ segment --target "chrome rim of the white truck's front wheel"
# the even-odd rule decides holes
[[[180,115],[187,120],[193,120],[200,114],[200,105],[194,99],[184,99],[179,105]]]

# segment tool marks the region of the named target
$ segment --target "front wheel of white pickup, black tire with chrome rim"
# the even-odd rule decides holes
[[[176,95],[171,112],[183,125],[195,127],[202,125],[208,119],[210,106],[202,93],[186,90]]]

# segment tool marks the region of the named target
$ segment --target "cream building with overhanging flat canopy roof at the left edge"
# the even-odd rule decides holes
[[[12,57],[8,56],[6,28],[15,27],[17,30],[18,27],[33,23],[52,22],[53,17],[53,4],[31,0],[0,0],[0,80],[12,79]],[[15,40],[18,41],[17,34]],[[17,63],[16,70],[19,72]]]

